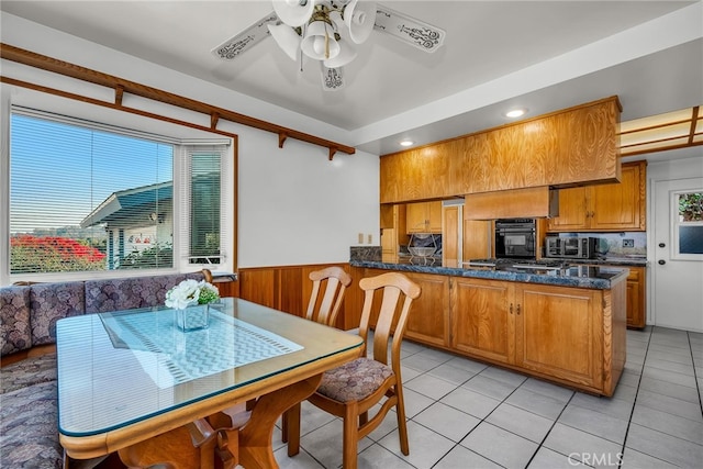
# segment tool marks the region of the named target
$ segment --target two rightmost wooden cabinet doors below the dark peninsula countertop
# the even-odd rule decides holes
[[[451,346],[588,388],[600,388],[598,290],[451,279]]]

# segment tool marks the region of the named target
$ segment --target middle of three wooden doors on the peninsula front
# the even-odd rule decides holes
[[[451,279],[451,347],[513,364],[514,287],[507,281]]]

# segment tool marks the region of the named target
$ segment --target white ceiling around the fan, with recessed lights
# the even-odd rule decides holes
[[[336,92],[322,90],[316,63],[301,72],[270,37],[232,62],[211,53],[270,13],[269,0],[0,9],[339,127],[345,144],[375,154],[404,136],[424,144],[501,125],[512,105],[538,115],[617,94],[631,120],[703,104],[700,0],[380,3],[443,29],[445,44],[427,54],[373,31]]]

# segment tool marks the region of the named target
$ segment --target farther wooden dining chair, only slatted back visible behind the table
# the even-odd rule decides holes
[[[310,272],[312,293],[305,319],[333,326],[342,308],[345,290],[352,284],[352,277],[342,267],[332,266]],[[324,294],[320,292],[324,286]]]

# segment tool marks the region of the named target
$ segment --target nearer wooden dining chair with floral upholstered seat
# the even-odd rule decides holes
[[[401,451],[403,455],[410,454],[400,373],[400,347],[410,306],[420,297],[421,288],[400,272],[364,278],[359,281],[359,287],[365,292],[359,325],[359,335],[365,342],[361,356],[326,371],[316,392],[308,398],[315,406],[344,420],[345,469],[356,468],[359,439],[378,427],[392,407],[395,407],[398,417]],[[382,294],[376,294],[379,290]],[[380,309],[372,308],[375,298],[381,300]],[[398,308],[401,298],[402,308]],[[373,331],[373,348],[367,356],[366,342],[372,310],[379,314]],[[369,410],[378,403],[381,404],[380,407],[369,418]],[[291,418],[288,432],[288,454],[293,456],[300,450],[300,421]]]

